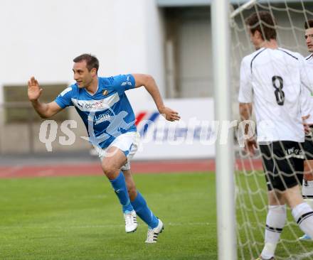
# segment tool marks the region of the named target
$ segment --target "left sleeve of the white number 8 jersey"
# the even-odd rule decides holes
[[[243,58],[240,65],[240,86],[238,101],[240,103],[253,102],[253,88],[252,88],[252,75],[249,60]]]

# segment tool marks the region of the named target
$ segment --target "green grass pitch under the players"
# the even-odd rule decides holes
[[[260,175],[236,178],[243,188],[253,190],[255,183],[265,188]],[[213,173],[160,173],[134,175],[134,179],[149,207],[164,221],[157,244],[144,244],[147,226],[141,220],[137,232],[124,232],[120,205],[104,176],[1,179],[0,259],[217,259]],[[254,205],[262,207],[260,195],[255,196]],[[249,206],[248,196],[242,200]],[[253,234],[259,244],[242,247],[238,259],[256,257],[262,249],[266,212],[258,214],[259,223],[253,212],[246,213],[255,229],[240,233],[240,240],[246,242],[247,234]],[[290,212],[288,216],[292,221]],[[297,227],[292,229],[301,234]],[[288,229],[282,238],[295,239]],[[312,245],[285,242],[293,254],[303,253],[303,248],[312,251]],[[277,255],[288,257],[282,244]]]

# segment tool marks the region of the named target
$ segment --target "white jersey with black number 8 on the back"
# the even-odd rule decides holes
[[[238,101],[255,109],[258,142],[304,141],[301,92],[312,90],[304,58],[283,48],[261,48],[243,58]]]

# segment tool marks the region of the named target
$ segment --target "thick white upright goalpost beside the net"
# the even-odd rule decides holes
[[[213,44],[213,79],[215,119],[222,126],[231,121],[230,99],[230,26],[228,0],[213,0],[211,26]],[[221,129],[221,127],[220,127]],[[216,139],[216,207],[218,259],[237,259],[235,237],[235,185],[233,161],[233,129],[228,141],[221,143],[221,130]]]

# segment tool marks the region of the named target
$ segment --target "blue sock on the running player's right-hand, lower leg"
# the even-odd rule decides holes
[[[134,207],[134,211],[136,212],[136,214],[144,222],[146,222],[150,228],[154,229],[154,227],[157,227],[157,225],[159,224],[159,220],[149,209],[146,200],[144,200],[144,197],[142,197],[138,190],[137,197],[131,203],[132,207]]]

